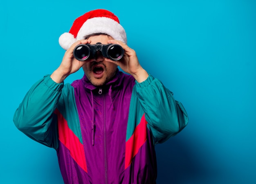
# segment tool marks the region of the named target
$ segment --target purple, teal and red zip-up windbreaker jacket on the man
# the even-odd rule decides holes
[[[155,144],[176,135],[188,117],[162,83],[137,83],[122,72],[103,88],[86,76],[35,83],[14,114],[17,128],[56,149],[65,184],[155,183]]]

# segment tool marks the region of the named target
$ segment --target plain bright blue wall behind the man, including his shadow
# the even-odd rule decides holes
[[[180,134],[156,146],[157,182],[256,183],[254,0],[1,1],[0,183],[63,183],[55,150],[12,118],[31,85],[61,63],[58,37],[98,8],[119,17],[141,65],[189,114]]]

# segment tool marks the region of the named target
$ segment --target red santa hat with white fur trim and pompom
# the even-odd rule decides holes
[[[63,33],[59,44],[67,50],[77,40],[82,40],[90,34],[103,33],[112,36],[115,40],[127,43],[126,32],[119,24],[119,19],[105,9],[92,10],[76,18],[70,31]]]

